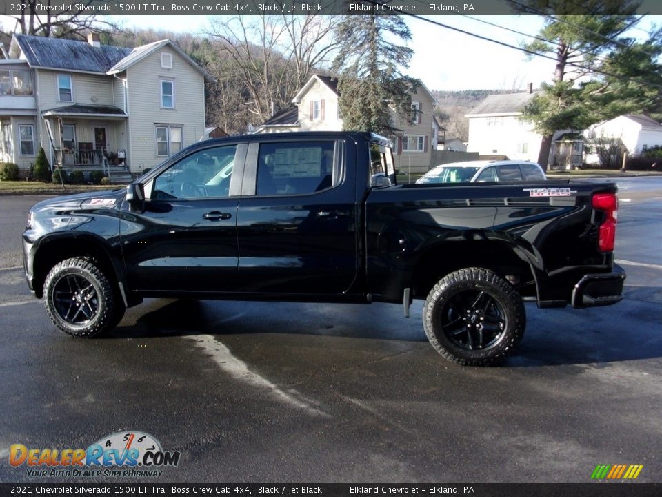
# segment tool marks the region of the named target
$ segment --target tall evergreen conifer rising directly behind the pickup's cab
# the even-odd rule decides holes
[[[393,14],[351,15],[343,17],[337,37],[333,70],[339,75],[343,128],[392,134],[392,108],[403,117],[410,115],[410,92],[418,84],[402,73],[413,50],[393,41],[410,41],[408,26]]]

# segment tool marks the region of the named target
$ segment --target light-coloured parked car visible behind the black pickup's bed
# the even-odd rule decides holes
[[[441,164],[417,179],[417,183],[485,183],[541,181],[547,179],[535,162],[467,161]]]

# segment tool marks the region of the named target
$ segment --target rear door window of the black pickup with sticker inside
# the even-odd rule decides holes
[[[334,186],[334,142],[260,144],[257,195],[305,195]]]

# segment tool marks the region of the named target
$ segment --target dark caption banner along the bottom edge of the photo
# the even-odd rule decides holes
[[[660,483],[0,483],[0,497],[144,496],[454,496],[658,497]]]

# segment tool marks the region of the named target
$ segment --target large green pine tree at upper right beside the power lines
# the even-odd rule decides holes
[[[538,4],[530,0],[523,10],[543,13]],[[645,43],[625,35],[641,19],[634,15],[639,1],[545,0],[545,5],[556,15],[545,17],[538,38],[525,48],[554,54],[554,77],[531,99],[523,119],[543,135],[538,161],[546,169],[557,130],[581,130],[623,113],[659,108],[662,71],[656,57],[662,46],[659,30]]]

